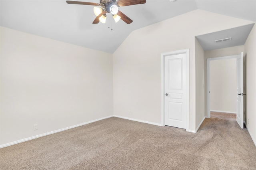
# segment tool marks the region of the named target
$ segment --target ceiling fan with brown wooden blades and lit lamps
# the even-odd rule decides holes
[[[99,22],[106,23],[106,13],[111,13],[115,22],[120,19],[126,22],[126,24],[131,24],[132,20],[118,10],[118,7],[129,6],[136,4],[145,4],[146,0],[100,0],[100,4],[94,2],[80,2],[80,1],[66,1],[68,4],[79,4],[79,5],[93,5],[94,14],[97,16],[92,24],[98,24]]]

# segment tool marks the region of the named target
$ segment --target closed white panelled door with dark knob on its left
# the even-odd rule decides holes
[[[165,125],[185,128],[187,119],[187,55],[164,57]]]

